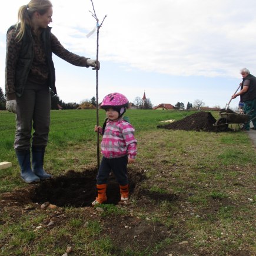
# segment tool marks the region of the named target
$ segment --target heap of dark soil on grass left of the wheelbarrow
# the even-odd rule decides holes
[[[197,112],[195,114],[189,115],[179,121],[172,122],[167,125],[158,125],[158,128],[164,129],[179,129],[185,131],[207,131],[215,132],[217,131],[215,124],[216,119],[212,116],[210,112]]]

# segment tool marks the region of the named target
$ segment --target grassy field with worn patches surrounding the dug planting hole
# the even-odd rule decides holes
[[[255,149],[246,132],[157,128],[191,114],[127,111],[138,140],[129,173],[144,177],[127,207],[45,210],[22,198],[40,185],[19,177],[15,115],[1,111],[0,162],[12,168],[0,170],[0,255],[256,255]],[[97,168],[95,124],[94,110],[51,112],[45,169],[54,179]]]

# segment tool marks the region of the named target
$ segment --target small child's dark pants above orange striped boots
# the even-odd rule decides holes
[[[99,165],[99,171],[97,175],[97,184],[106,184],[109,174],[112,172],[115,175],[119,185],[128,184],[128,173],[127,173],[128,157],[119,158],[105,158],[102,157],[101,164]]]

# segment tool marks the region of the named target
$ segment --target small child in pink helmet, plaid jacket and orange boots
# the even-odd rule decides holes
[[[105,109],[107,119],[103,127],[95,127],[94,131],[103,135],[101,153],[103,155],[97,175],[98,196],[92,206],[107,201],[107,179],[114,172],[119,183],[121,203],[127,204],[129,185],[127,164],[135,162],[137,140],[134,138],[134,128],[122,118],[128,107],[128,99],[118,92],[104,97],[101,108]]]

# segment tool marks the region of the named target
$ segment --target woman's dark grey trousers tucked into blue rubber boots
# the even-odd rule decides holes
[[[48,85],[28,84],[21,97],[16,98],[16,132],[14,148],[26,150],[33,146],[46,146],[48,142],[51,95]]]

